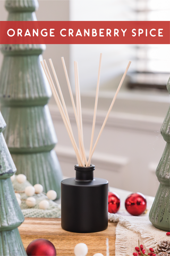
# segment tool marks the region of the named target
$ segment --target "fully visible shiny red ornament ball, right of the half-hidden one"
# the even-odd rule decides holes
[[[141,193],[134,193],[128,196],[128,198],[126,198],[125,208],[133,216],[138,216],[145,212],[146,207],[146,198]]]

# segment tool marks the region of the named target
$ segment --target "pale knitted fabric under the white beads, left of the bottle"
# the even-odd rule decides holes
[[[12,182],[13,187],[15,191],[24,191],[25,187],[31,186],[30,182],[25,181],[24,183],[19,183],[16,180]],[[20,194],[21,199],[27,199],[27,196],[23,193]],[[48,197],[43,194],[35,194],[32,197],[35,197],[36,199],[36,205],[34,207],[29,207],[25,203],[25,201],[21,201],[21,210],[25,218],[60,218],[61,217],[61,206],[53,202],[52,200],[49,200]],[[49,208],[47,210],[39,209],[38,204],[40,201],[48,199],[49,202]]]

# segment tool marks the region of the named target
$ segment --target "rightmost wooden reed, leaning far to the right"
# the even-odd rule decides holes
[[[98,143],[99,138],[100,138],[100,135],[101,135],[101,133],[103,132],[103,129],[104,129],[105,124],[106,124],[106,122],[107,122],[108,116],[109,116],[109,114],[111,113],[112,107],[113,107],[114,102],[115,102],[116,97],[117,97],[117,94],[118,94],[118,92],[119,92],[120,89],[121,89],[121,86],[122,86],[122,84],[123,84],[124,78],[125,78],[125,76],[126,76],[126,74],[127,74],[127,72],[128,72],[128,69],[129,69],[130,65],[131,65],[131,61],[129,61],[128,66],[126,67],[126,70],[125,70],[125,72],[124,72],[124,74],[123,74],[123,76],[122,76],[121,82],[120,82],[120,84],[118,85],[117,91],[116,91],[116,93],[115,93],[115,95],[114,95],[114,98],[113,98],[113,101],[112,101],[112,103],[111,103],[111,106],[109,107],[109,110],[108,110],[107,115],[106,115],[106,117],[105,117],[105,121],[104,121],[103,125],[101,126],[99,135],[98,135],[97,140],[96,140],[96,142],[95,142],[95,145],[94,145],[94,147],[93,147],[93,149],[92,149],[92,151],[91,151],[91,154],[89,155],[88,163],[87,163],[86,166],[89,166],[89,165],[90,165],[91,157],[92,157],[92,155],[94,154],[95,148],[96,148],[97,143]]]

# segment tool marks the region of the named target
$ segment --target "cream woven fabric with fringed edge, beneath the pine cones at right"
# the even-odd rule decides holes
[[[122,217],[108,213],[108,219],[118,222],[116,227],[116,256],[133,255],[135,247],[143,244],[148,254],[149,248],[156,250],[157,243],[162,240],[170,241],[166,231],[155,228],[148,217]],[[170,254],[169,254],[170,255]]]

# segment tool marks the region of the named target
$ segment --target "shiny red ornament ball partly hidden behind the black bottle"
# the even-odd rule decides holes
[[[108,212],[116,213],[120,209],[121,200],[116,193],[108,193]]]

